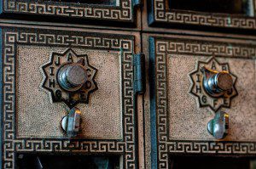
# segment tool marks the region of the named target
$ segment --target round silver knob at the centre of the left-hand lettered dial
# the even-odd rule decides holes
[[[86,70],[79,64],[62,66],[57,76],[61,87],[70,92],[79,90],[87,81]]]

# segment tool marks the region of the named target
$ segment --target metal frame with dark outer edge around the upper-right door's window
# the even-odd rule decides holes
[[[253,11],[255,13],[255,0],[253,3]],[[170,9],[166,7],[166,0],[148,0],[148,25],[167,28],[170,28],[172,25],[197,25],[215,28],[255,30],[256,18],[237,14],[210,14]]]

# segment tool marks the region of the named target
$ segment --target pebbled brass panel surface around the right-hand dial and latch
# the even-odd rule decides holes
[[[195,69],[198,60],[207,61],[207,59],[209,58],[168,55],[170,139],[215,140],[207,132],[207,122],[212,119],[214,112],[208,108],[199,108],[195,97],[189,93],[191,85],[189,72]],[[223,58],[218,60],[229,63],[230,70],[238,77],[236,89],[239,94],[233,99],[230,109],[226,109],[230,115],[230,133],[224,140],[255,141],[255,60]]]

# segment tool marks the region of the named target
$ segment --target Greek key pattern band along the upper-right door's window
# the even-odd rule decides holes
[[[177,9],[166,10],[166,0],[154,1],[154,21],[189,25],[207,25],[242,29],[256,29],[256,19],[239,17],[232,14],[207,14],[201,12],[186,12]]]

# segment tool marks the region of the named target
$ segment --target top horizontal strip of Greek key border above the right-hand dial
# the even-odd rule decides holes
[[[168,54],[203,54],[207,56],[224,56],[234,58],[255,58],[256,47],[250,44],[208,42],[202,40],[160,40],[157,49]]]

